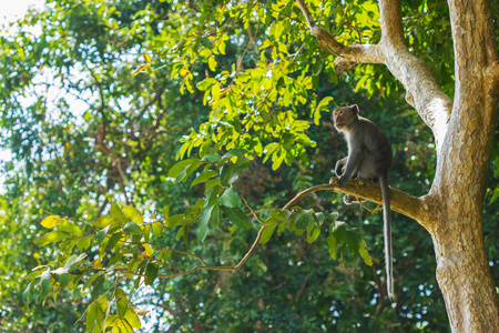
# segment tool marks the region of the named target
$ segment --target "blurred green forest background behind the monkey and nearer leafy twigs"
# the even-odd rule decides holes
[[[435,165],[432,137],[405,102],[404,89],[381,65],[364,64],[337,77],[334,56],[308,36],[299,23],[303,17],[288,2],[274,2],[282,6],[273,11],[275,21],[237,17],[244,10],[256,17],[261,7],[272,3],[234,3],[225,17],[232,23],[224,26],[223,33],[216,31],[223,36],[220,39],[207,30],[212,17],[206,13],[215,12],[211,6],[222,1],[47,2],[45,9],[30,12],[1,37],[0,148],[10,154],[0,164],[0,332],[85,332],[85,321],[78,320],[89,306],[91,290],[61,290],[43,305],[41,300],[30,305],[22,300],[29,283],[23,278],[59,251],[57,244],[39,242],[47,233],[40,222],[51,214],[92,221],[106,214],[112,202],[134,205],[145,219],[153,219],[154,211],[165,206],[171,214],[183,212],[203,191],[176,183],[167,173],[182,145],[196,135],[206,137],[203,133],[210,128],[227,135],[240,131],[248,135],[234,140],[254,142],[248,145],[253,149],[249,167],[240,173],[234,188],[261,210],[282,206],[299,191],[328,183],[336,160],[346,154],[330,111],[346,103],[359,104],[360,112],[387,133],[394,148],[390,185],[416,196],[429,189]],[[334,10],[324,14],[323,23],[330,24],[345,43],[379,40],[375,2],[325,2]],[[491,2],[498,18],[499,2]],[[405,1],[403,12],[411,51],[452,95],[447,3]],[[296,24],[278,24],[287,19]],[[216,23],[210,27],[216,30]],[[497,21],[496,29],[499,32]],[[234,70],[247,74],[247,84],[263,84],[256,79],[266,72],[249,70],[262,57],[274,59],[273,52],[285,54],[291,62],[282,79],[286,81],[278,82],[292,87],[291,107],[271,110],[267,118],[254,115],[247,131],[244,125],[214,123],[204,92],[207,88],[196,84],[206,78],[222,82],[223,71]],[[320,112],[310,111],[310,104],[328,97],[333,100],[326,99]],[[243,111],[242,120],[249,114]],[[279,117],[288,117],[288,125],[305,123],[306,137],[258,130],[257,124],[275,124],[274,118]],[[299,140],[308,141],[299,145]],[[283,153],[281,161],[279,157],[268,159],[272,142],[278,142],[283,151],[289,145],[296,151]],[[192,154],[204,143],[193,143]],[[499,211],[492,204],[499,193],[495,191],[497,145],[493,153],[483,232],[498,281]],[[299,204],[338,212],[338,220],[366,240],[374,264],[348,252],[332,259],[324,234],[312,244],[287,231],[274,234],[235,274],[197,271],[157,279],[152,287],[140,289],[132,302],[150,310],[141,317],[141,332],[449,331],[435,278],[431,239],[418,223],[393,212],[399,302],[391,307],[378,294],[384,283],[380,214],[345,206],[342,195],[332,192],[317,192]],[[204,242],[191,232],[185,235],[189,250],[176,233],[166,229],[157,244],[190,251],[212,263],[236,263],[256,230],[221,228]]]

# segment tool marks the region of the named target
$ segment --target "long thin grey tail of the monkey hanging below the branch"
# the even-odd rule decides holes
[[[390,218],[390,195],[388,190],[388,175],[379,176],[379,186],[383,195],[383,221],[385,223],[385,264],[386,264],[386,290],[388,297],[396,301],[394,293],[394,264],[391,254],[391,218]]]

